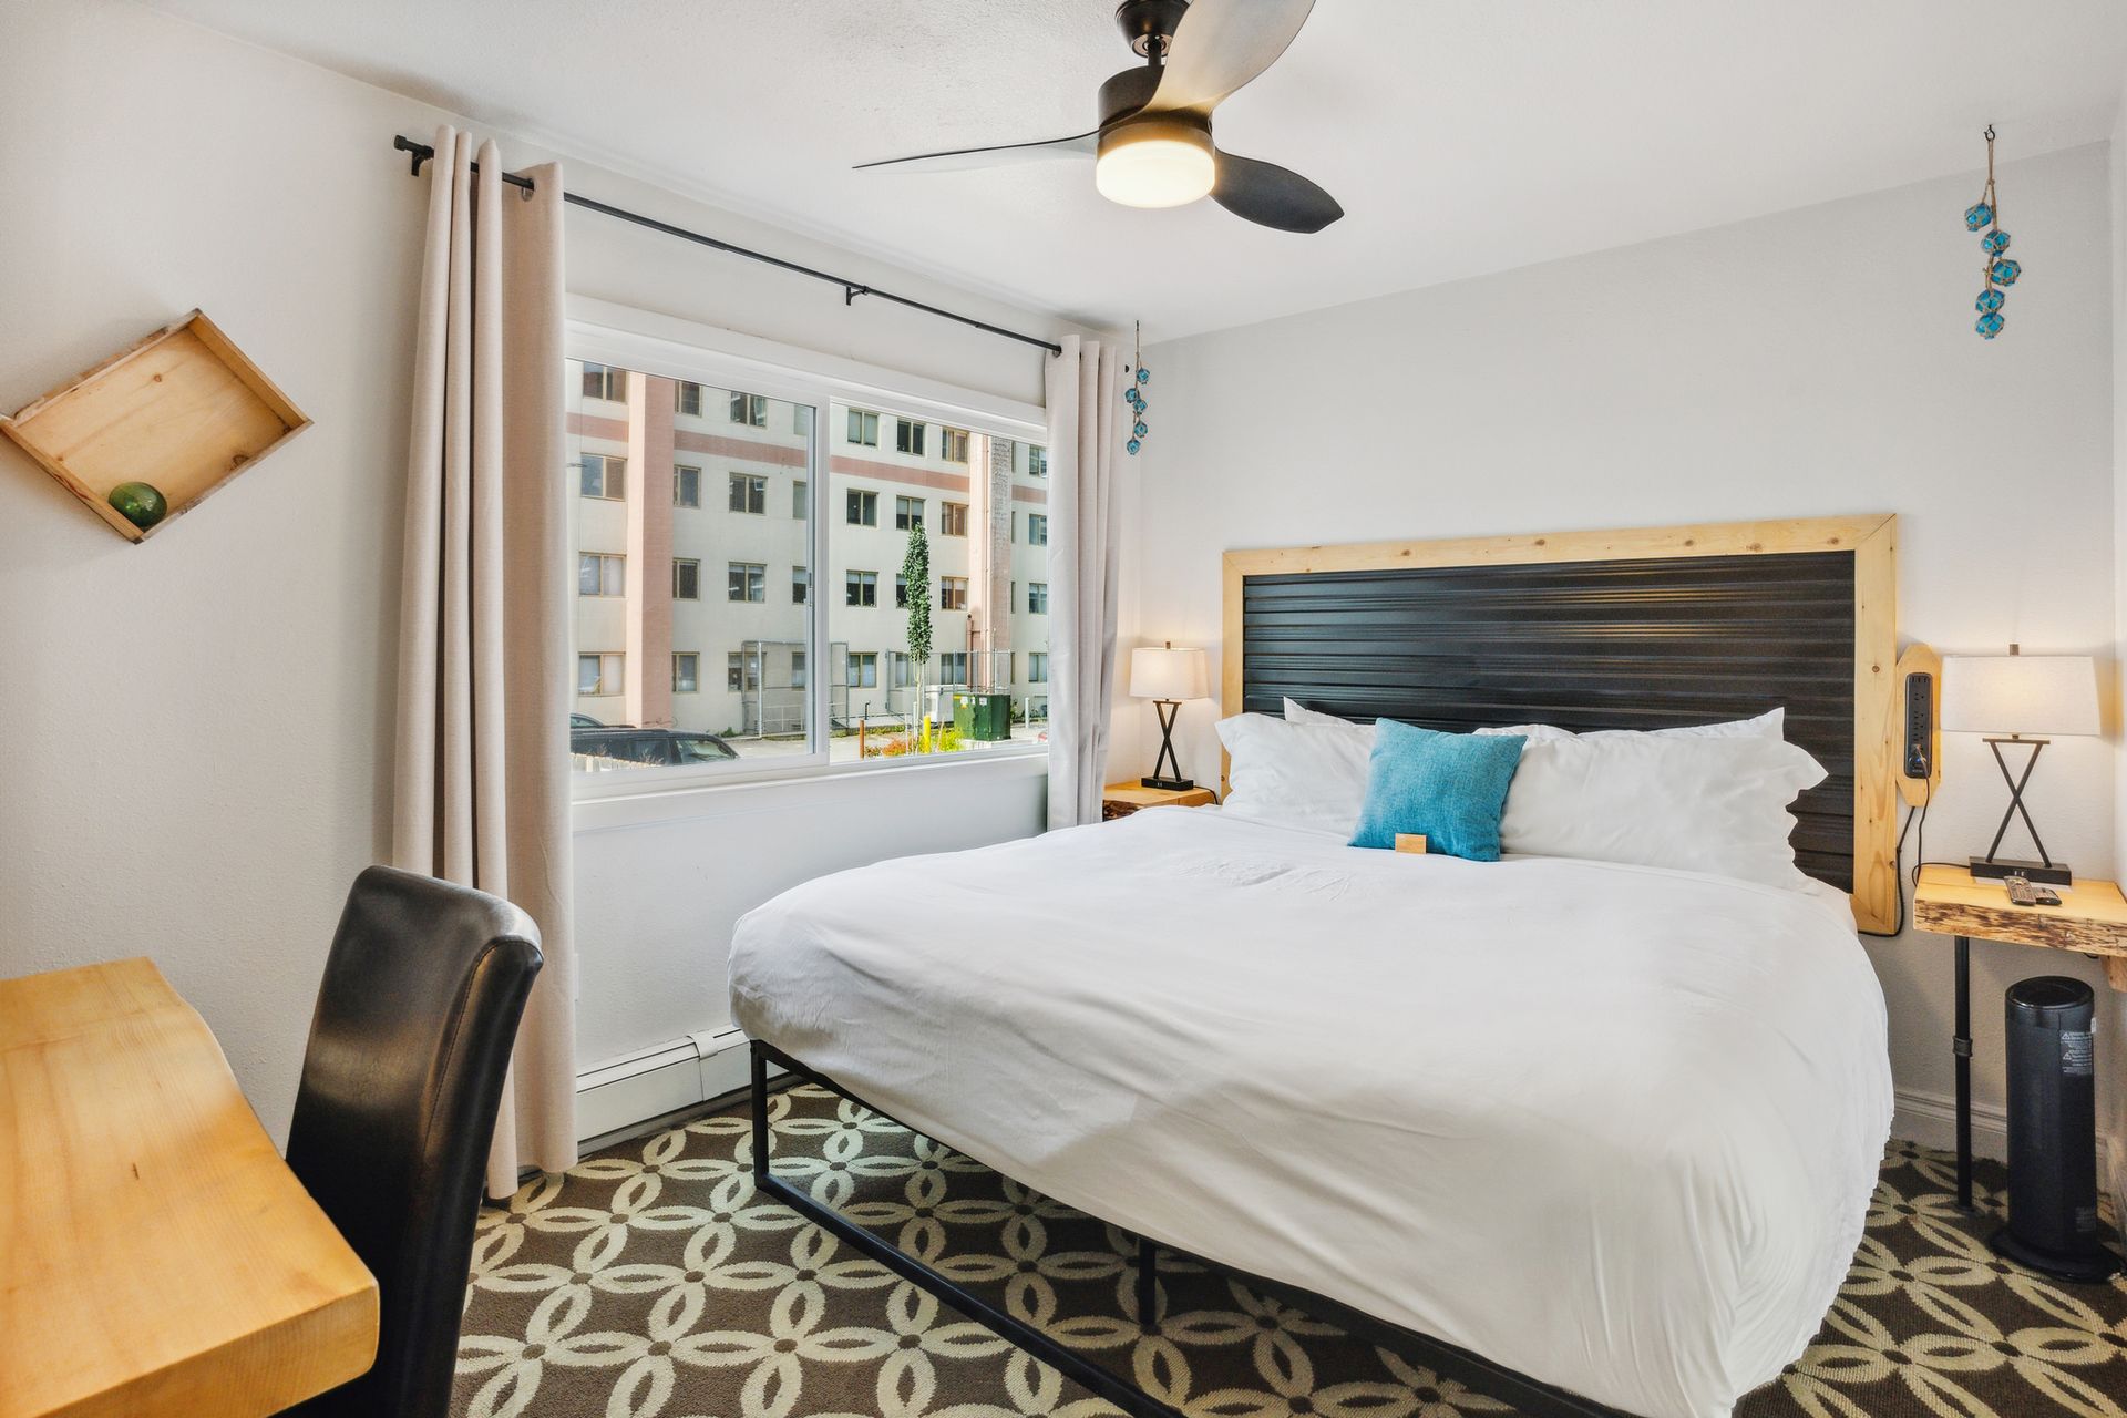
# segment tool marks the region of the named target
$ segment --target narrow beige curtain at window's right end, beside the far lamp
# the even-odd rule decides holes
[[[1049,359],[1049,827],[1100,821],[1115,702],[1119,351]]]

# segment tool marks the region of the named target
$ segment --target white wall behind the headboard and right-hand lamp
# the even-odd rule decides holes
[[[1157,536],[1132,629],[1217,646],[1234,546],[1897,512],[1902,638],[2110,665],[2106,176],[2101,145],[2002,168],[2027,274],[1991,344],[1972,334],[1980,253],[1961,221],[1978,172],[1159,344],[1142,472]],[[1217,774],[1212,719],[1185,710],[1200,778]],[[1953,736],[1944,765],[1927,850],[1957,859],[1984,850],[2006,789],[1976,738]],[[2055,855],[2110,874],[2110,742],[2057,742],[2031,804]],[[1899,1086],[1948,1095],[1948,942],[1868,948]],[[2002,989],[2101,974],[1974,950],[1984,1108]]]

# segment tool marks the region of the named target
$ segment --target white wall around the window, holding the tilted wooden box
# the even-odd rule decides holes
[[[391,151],[445,115],[121,0],[0,6],[0,410],[208,310],[317,419],[128,544],[0,444],[0,974],[149,955],[285,1127],[340,899],[383,850],[417,247]],[[504,138],[510,166],[542,157]],[[970,315],[1066,325],[570,166],[623,206]],[[570,289],[1040,402],[1042,355],[572,210]],[[723,1023],[738,912],[802,876],[1036,831],[957,770],[581,844],[583,1063]]]

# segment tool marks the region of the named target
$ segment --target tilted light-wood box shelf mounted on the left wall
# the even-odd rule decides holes
[[[198,310],[0,419],[0,432],[132,542],[306,427],[308,415]],[[168,514],[136,527],[108,502],[119,483],[155,485]]]

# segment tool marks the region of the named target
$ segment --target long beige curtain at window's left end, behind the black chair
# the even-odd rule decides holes
[[[479,162],[479,174],[472,164]],[[487,1193],[576,1161],[562,170],[436,134],[406,457],[391,863],[508,897],[540,969]]]

